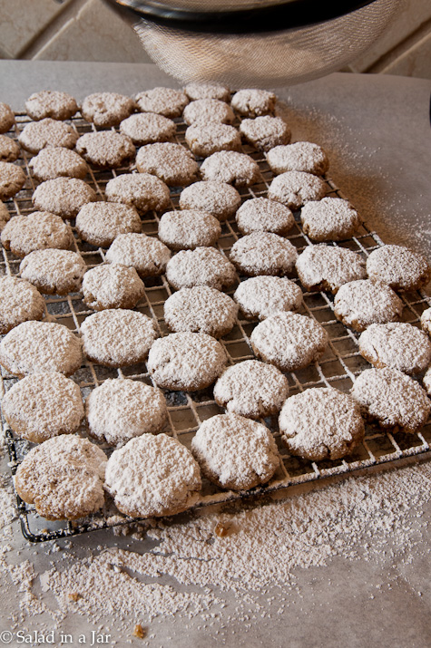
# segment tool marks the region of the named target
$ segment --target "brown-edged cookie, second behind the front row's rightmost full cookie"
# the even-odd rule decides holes
[[[342,285],[334,299],[337,319],[358,333],[365,331],[369,324],[395,322],[401,317],[403,307],[392,288],[369,279]]]

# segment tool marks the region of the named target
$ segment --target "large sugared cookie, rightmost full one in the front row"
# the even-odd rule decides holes
[[[431,401],[420,384],[397,369],[367,369],[351,389],[362,415],[381,428],[414,433],[425,425]]]

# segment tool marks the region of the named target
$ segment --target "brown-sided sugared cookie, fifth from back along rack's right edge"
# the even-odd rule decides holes
[[[358,212],[343,198],[310,200],[301,209],[302,228],[313,241],[342,241],[361,224]]]

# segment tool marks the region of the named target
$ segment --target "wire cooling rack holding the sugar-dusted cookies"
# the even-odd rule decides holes
[[[16,127],[13,137],[17,138],[19,132],[23,130],[24,125],[28,121],[26,115],[16,115]],[[183,144],[186,126],[179,120],[177,122],[176,140],[178,143]],[[73,127],[80,134],[95,130],[91,124],[88,124],[79,117],[73,118],[70,123],[72,123]],[[268,164],[260,152],[252,149],[248,145],[243,147],[243,152],[248,153],[258,162],[262,181],[260,184],[253,185],[250,189],[240,191],[241,198],[246,200],[248,198],[265,197],[269,189],[269,183],[273,178]],[[28,168],[28,162],[31,157],[30,154],[22,151],[22,157],[20,160],[17,160],[17,164],[22,165],[26,171],[28,179],[24,189],[7,203],[11,216],[25,215],[34,210],[31,198],[38,183],[34,180]],[[95,189],[99,198],[104,199],[106,183],[116,175],[130,171],[130,168],[117,169],[115,171],[91,169],[89,176],[85,180]],[[342,191],[330,178],[326,178],[326,184],[328,196],[348,198],[342,194]],[[171,190],[172,209],[178,208],[180,192],[181,189]],[[160,215],[155,212],[145,214],[142,217],[142,231],[150,236],[156,236],[159,220]],[[73,234],[75,237],[74,249],[83,256],[89,268],[104,262],[106,250],[93,247],[82,241],[78,237],[74,227]],[[239,237],[240,234],[234,219],[223,223],[221,236],[218,241],[220,251],[228,255],[230,247],[232,247]],[[298,248],[299,252],[304,247],[310,245],[309,238],[301,228],[299,213],[295,214],[295,225],[290,230],[288,238]],[[361,256],[367,257],[372,250],[383,245],[383,242],[377,237],[375,232],[370,231],[364,224],[358,229],[356,237],[342,241],[337,245],[348,247],[358,252]],[[3,259],[0,261],[0,275],[18,275],[21,259],[3,248],[2,254]],[[242,278],[247,277],[238,277],[238,280],[240,281]],[[298,278],[295,280],[299,281]],[[169,295],[171,295],[171,287],[165,276],[147,278],[144,280],[144,284],[145,296],[136,306],[136,309],[152,317],[161,335],[168,334],[169,331],[163,320],[163,304]],[[233,286],[228,291],[229,295],[233,294],[235,287]],[[430,305],[425,293],[415,291],[401,293],[399,296],[405,305],[403,321],[410,324],[418,324],[421,313]],[[304,301],[300,313],[308,314],[326,328],[329,335],[329,343],[325,354],[318,363],[312,363],[305,369],[287,374],[290,389],[289,394],[302,392],[309,387],[324,386],[331,386],[342,392],[348,392],[355,381],[355,377],[370,366],[358,353],[358,334],[355,334],[346,326],[340,324],[335,318],[332,295],[327,295],[323,292],[305,292],[303,298]],[[58,324],[64,324],[75,334],[80,334],[80,326],[83,320],[89,314],[93,313],[84,304],[81,293],[65,296],[50,295],[46,296],[45,302],[46,319],[57,322]],[[230,334],[225,335],[220,340],[227,352],[230,364],[250,360],[254,357],[249,341],[250,334],[257,324],[258,322],[240,320]],[[111,369],[85,361],[83,366],[73,374],[72,378],[79,384],[83,392],[83,397],[86,397],[94,387],[108,378],[132,378],[133,380],[153,384],[151,376],[143,363],[131,367]],[[2,393],[10,389],[16,380],[14,376],[9,375],[2,368]],[[212,388],[194,393],[165,391],[164,394],[168,404],[169,416],[163,431],[181,441],[187,448],[190,448],[191,439],[202,421],[209,419],[215,414],[224,412],[214,401]],[[2,421],[5,426],[5,438],[11,459],[10,465],[12,472],[15,474],[19,462],[24,458],[25,453],[31,448],[32,444],[17,439],[15,434],[7,429],[3,414]],[[250,495],[269,494],[275,490],[287,488],[295,484],[321,479],[330,475],[349,474],[358,469],[366,469],[370,466],[391,461],[394,462],[397,459],[407,458],[430,450],[431,423],[426,424],[416,434],[408,435],[402,433],[392,434],[379,430],[377,427],[367,426],[365,439],[348,457],[334,461],[309,461],[307,459],[289,456],[287,449],[280,440],[277,417],[270,417],[264,419],[262,422],[274,434],[281,457],[280,467],[274,477],[263,487],[252,488],[250,491],[240,493],[221,490],[206,479],[203,479],[201,497],[194,508],[216,503],[233,502],[241,498],[249,497]],[[80,430],[80,433],[85,436],[84,429]],[[110,450],[105,450],[109,454]],[[107,499],[108,501],[105,507],[98,514],[73,522],[51,522],[39,517],[35,513],[33,506],[25,504],[17,496],[18,514],[21,519],[24,537],[33,542],[40,542],[131,522],[131,518],[122,516],[114,507],[113,502],[109,498]]]

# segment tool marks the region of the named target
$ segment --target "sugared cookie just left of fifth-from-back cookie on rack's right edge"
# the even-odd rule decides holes
[[[241,234],[272,232],[283,237],[295,223],[289,208],[268,198],[251,198],[242,203],[235,219]]]

